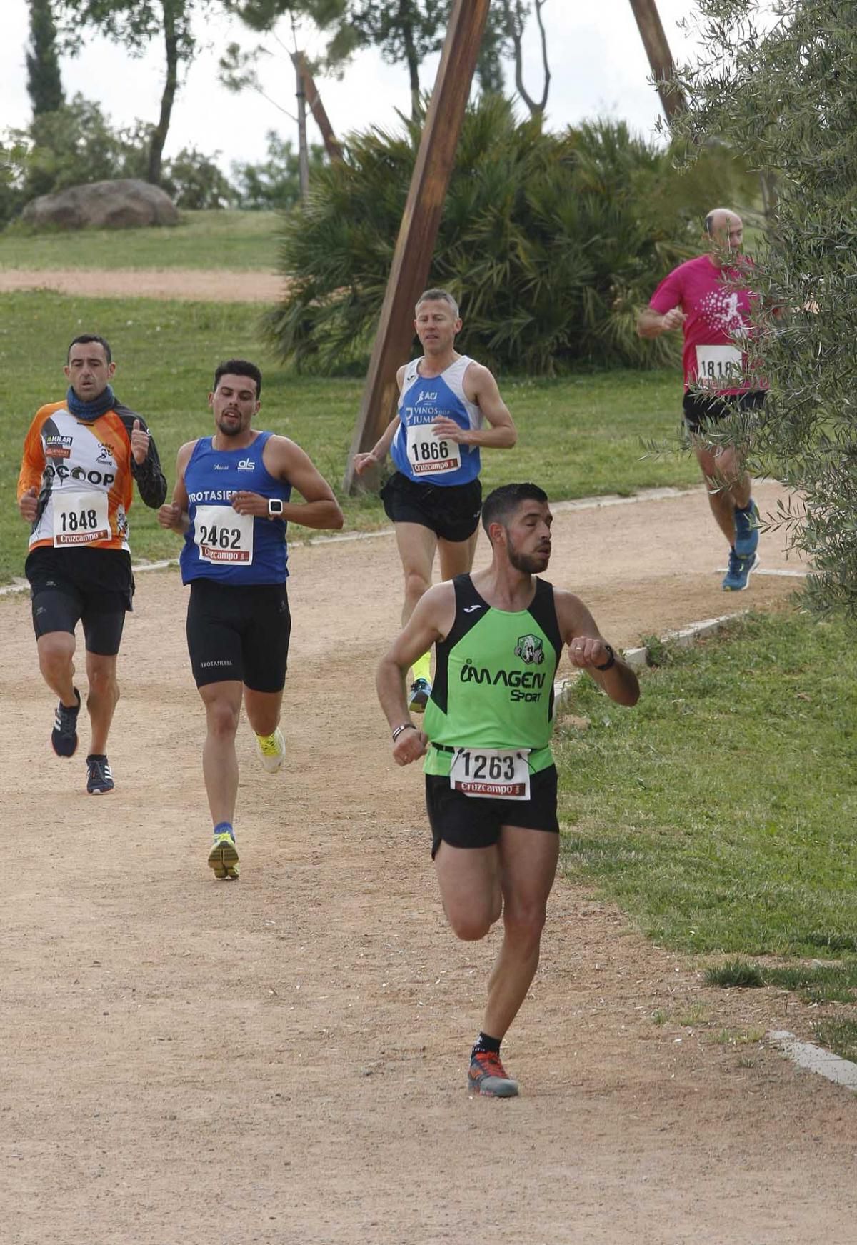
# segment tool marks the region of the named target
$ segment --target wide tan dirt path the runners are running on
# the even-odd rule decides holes
[[[625,645],[793,588],[759,575],[725,598],[700,494],[563,512],[554,547],[551,578]],[[786,565],[770,540],[764,561]],[[808,1035],[802,1010],[706,990],[574,879],[504,1047],[522,1097],[467,1096],[497,939],[445,928],[421,776],[389,759],[372,670],[396,627],[395,549],[296,545],[291,569],[288,771],[257,767],[243,723],[234,885],[206,868],[177,574],[140,576],[103,799],[50,753],[27,604],[0,600],[4,1240],[851,1240],[853,1099],[764,1045],[714,1041]],[[694,1005],[703,1028],[680,1023]]]

